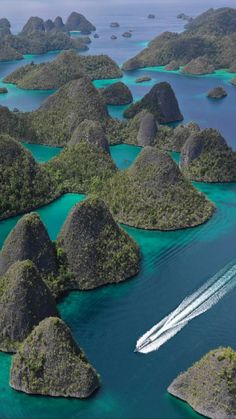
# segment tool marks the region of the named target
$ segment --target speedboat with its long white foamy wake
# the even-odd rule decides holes
[[[159,349],[195,317],[208,311],[236,286],[236,264],[215,274],[168,316],[148,330],[136,344],[136,351],[149,353]]]

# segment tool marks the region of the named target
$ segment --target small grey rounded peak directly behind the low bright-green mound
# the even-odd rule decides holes
[[[106,134],[98,121],[85,119],[81,122],[81,124],[73,132],[68,145],[76,145],[81,141],[86,141],[89,144],[101,147],[104,151],[110,154]]]

